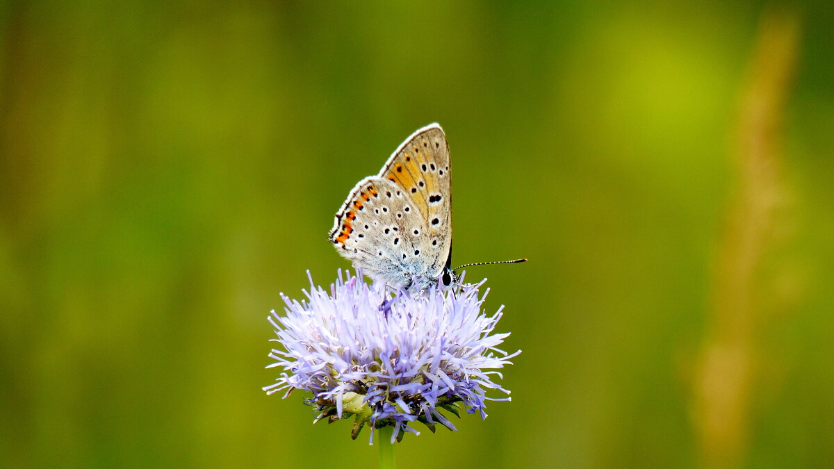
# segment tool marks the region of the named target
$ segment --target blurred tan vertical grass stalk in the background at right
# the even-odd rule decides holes
[[[721,235],[711,316],[694,381],[693,416],[706,466],[740,466],[756,390],[757,331],[765,319],[757,275],[772,244],[786,188],[779,150],[781,117],[796,60],[799,21],[785,11],[761,20],[741,95],[731,158],[736,187]]]

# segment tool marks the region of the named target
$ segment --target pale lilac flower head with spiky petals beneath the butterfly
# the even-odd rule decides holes
[[[456,430],[440,409],[460,416],[463,406],[484,419],[486,401],[510,401],[486,396],[490,389],[510,394],[492,381],[500,372],[490,370],[510,365],[520,350],[496,348],[510,334],[493,333],[503,306],[491,316],[481,312],[485,280],[420,294],[367,285],[350,273],[343,279],[341,271],[329,292],[309,280],[307,300],[282,294],[286,315],[273,310],[269,317],[278,335],[271,340],[282,348],[272,350],[267,368],[284,371],[264,387],[268,394],[310,391],[305,403],[317,407],[315,421],[354,416],[354,439],[367,422],[371,438],[374,428],[394,426],[392,441],[419,435],[414,422]]]

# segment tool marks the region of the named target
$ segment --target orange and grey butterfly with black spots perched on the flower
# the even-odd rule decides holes
[[[417,130],[379,174],[350,191],[330,242],[354,267],[388,285],[451,285],[458,280],[451,269],[451,177],[443,129]]]

